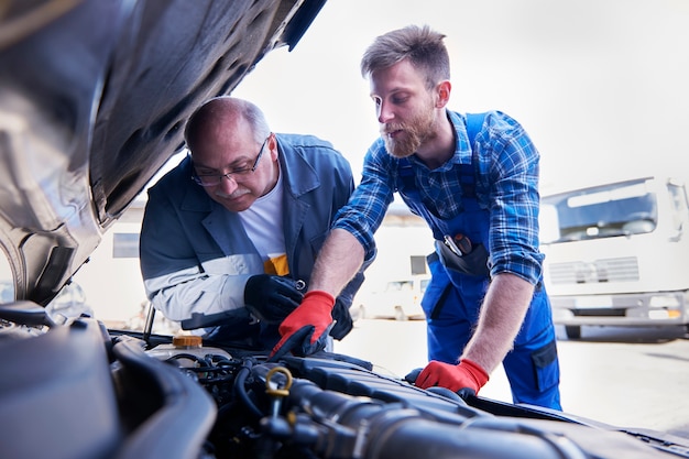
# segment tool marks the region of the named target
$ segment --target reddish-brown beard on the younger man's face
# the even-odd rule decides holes
[[[384,124],[381,133],[387,153],[394,157],[407,157],[416,153],[425,141],[434,136],[433,127],[435,121],[434,110],[427,110],[420,112],[408,122]],[[397,132],[397,135],[394,138],[387,135],[395,131],[402,132]]]

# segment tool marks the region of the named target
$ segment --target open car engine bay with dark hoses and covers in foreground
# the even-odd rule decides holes
[[[47,325],[29,302],[2,309],[6,457],[689,457],[648,434],[420,390],[348,356],[271,362],[247,350],[144,340],[88,317]]]

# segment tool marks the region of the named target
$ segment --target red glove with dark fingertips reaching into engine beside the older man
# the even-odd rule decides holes
[[[273,348],[270,360],[277,360],[287,352],[309,356],[326,347],[332,328],[332,306],[335,298],[327,292],[311,291],[304,300],[280,325],[282,339]]]

